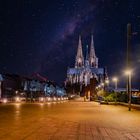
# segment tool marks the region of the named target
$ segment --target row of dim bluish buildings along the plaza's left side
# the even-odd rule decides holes
[[[30,100],[48,96],[62,97],[66,96],[66,92],[63,87],[39,74],[32,76],[0,74],[0,100],[7,98],[13,101],[15,97]]]

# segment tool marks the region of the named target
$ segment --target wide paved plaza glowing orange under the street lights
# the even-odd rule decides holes
[[[0,105],[0,140],[140,140],[140,111],[94,102]]]

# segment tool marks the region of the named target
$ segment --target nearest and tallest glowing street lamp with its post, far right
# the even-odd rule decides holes
[[[128,110],[131,111],[131,75],[132,71],[131,70],[126,70],[125,74],[127,75],[127,95],[129,96],[128,98]]]

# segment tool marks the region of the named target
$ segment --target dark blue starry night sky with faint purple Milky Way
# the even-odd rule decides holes
[[[133,85],[140,87],[139,0],[0,1],[0,73],[40,73],[63,82],[74,66],[79,34],[83,49],[94,35],[99,66],[125,81],[126,26],[132,37]],[[85,50],[85,49],[84,49]]]

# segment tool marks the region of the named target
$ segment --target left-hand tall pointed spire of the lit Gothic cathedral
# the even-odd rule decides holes
[[[82,67],[83,65],[84,65],[84,57],[83,57],[83,51],[82,51],[82,41],[81,41],[81,36],[79,36],[75,67]]]

